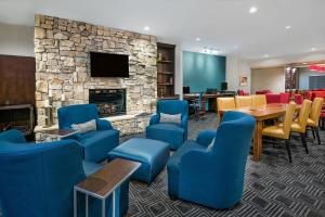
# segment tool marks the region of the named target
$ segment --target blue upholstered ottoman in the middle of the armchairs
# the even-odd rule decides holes
[[[133,138],[108,152],[108,161],[116,157],[142,163],[131,178],[151,183],[167,164],[169,144],[152,139]]]

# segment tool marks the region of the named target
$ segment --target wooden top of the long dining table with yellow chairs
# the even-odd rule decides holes
[[[281,114],[285,114],[287,110],[287,105],[288,104],[283,104],[283,103],[270,103],[261,106],[239,107],[235,110],[224,110],[220,112],[224,113],[226,111],[237,111],[237,112],[249,114],[257,119],[268,119],[274,116],[278,116]],[[297,110],[299,110],[300,107],[301,105],[296,105]]]

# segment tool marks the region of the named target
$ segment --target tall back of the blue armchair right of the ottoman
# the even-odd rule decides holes
[[[245,167],[256,119],[240,112],[225,112],[216,132],[214,145],[207,155],[211,161],[211,170],[216,180],[211,184],[222,188],[220,199],[225,199],[232,192],[232,197],[243,195]],[[240,133],[236,133],[240,131]],[[221,176],[222,174],[222,176]]]

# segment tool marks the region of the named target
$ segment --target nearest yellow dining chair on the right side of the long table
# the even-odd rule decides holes
[[[290,128],[296,112],[296,103],[290,102],[287,106],[283,125],[273,125],[262,129],[262,136],[271,137],[275,139],[285,140],[287,146],[289,162],[291,163],[291,151],[290,151]]]

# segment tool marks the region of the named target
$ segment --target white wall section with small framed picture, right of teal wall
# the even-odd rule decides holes
[[[237,91],[238,89],[245,92],[250,92],[250,67],[247,61],[239,59],[237,55],[226,56],[225,80],[227,90]],[[239,86],[239,77],[247,76],[247,86]]]

